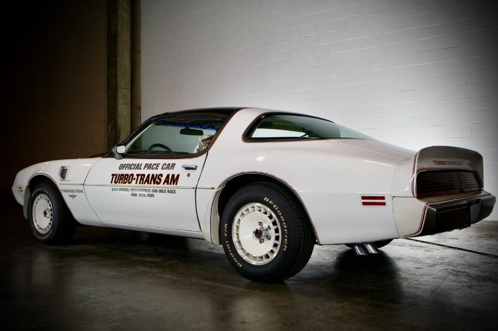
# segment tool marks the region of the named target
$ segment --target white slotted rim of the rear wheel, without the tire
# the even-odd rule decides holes
[[[265,205],[249,203],[234,218],[232,239],[239,255],[250,264],[263,265],[278,253],[280,222]]]

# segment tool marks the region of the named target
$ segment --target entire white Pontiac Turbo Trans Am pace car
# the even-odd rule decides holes
[[[12,192],[42,243],[69,241],[78,224],[203,238],[267,282],[298,273],[315,244],[377,253],[468,227],[496,200],[477,152],[414,152],[259,108],[154,116],[107,155],[19,171]]]

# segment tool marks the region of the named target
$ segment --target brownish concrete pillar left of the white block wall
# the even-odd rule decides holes
[[[130,134],[130,0],[107,2],[107,145]]]

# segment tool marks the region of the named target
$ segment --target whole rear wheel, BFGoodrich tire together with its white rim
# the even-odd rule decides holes
[[[232,266],[263,282],[297,274],[315,245],[311,224],[295,197],[268,182],[246,185],[229,199],[220,238]]]

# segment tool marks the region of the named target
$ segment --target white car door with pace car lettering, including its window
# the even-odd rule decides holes
[[[200,232],[197,182],[207,145],[221,118],[172,116],[149,120],[125,141],[125,152],[102,158],[84,189],[104,225]]]

